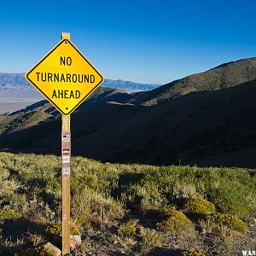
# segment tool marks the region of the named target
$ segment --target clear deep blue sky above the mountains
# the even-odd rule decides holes
[[[4,0],[0,72],[26,72],[70,32],[106,79],[165,84],[256,56],[255,9],[255,0]]]

